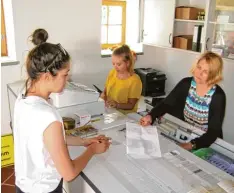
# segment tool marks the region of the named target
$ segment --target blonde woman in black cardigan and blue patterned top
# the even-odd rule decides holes
[[[220,86],[222,58],[206,52],[192,66],[193,77],[182,79],[166,99],[141,119],[146,126],[165,113],[169,113],[205,131],[201,137],[180,144],[187,150],[210,146],[217,137],[222,138],[222,123],[226,96]]]

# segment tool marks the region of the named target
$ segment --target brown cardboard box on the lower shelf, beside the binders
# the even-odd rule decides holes
[[[192,50],[193,35],[181,35],[173,38],[173,48]]]

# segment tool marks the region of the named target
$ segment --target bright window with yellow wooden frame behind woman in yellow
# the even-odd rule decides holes
[[[102,49],[124,44],[126,35],[126,1],[102,1]]]

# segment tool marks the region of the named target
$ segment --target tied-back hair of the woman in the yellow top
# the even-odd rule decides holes
[[[135,60],[133,58],[133,53],[128,45],[124,44],[122,46],[118,46],[114,49],[112,55],[122,56],[125,62],[129,62],[128,71],[130,73],[134,73],[134,63]]]

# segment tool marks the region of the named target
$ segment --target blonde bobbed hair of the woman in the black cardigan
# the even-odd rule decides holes
[[[210,51],[203,53],[197,62],[193,64],[190,70],[192,75],[194,75],[197,64],[202,60],[205,60],[209,66],[208,85],[215,85],[223,80],[223,60],[218,54]]]

